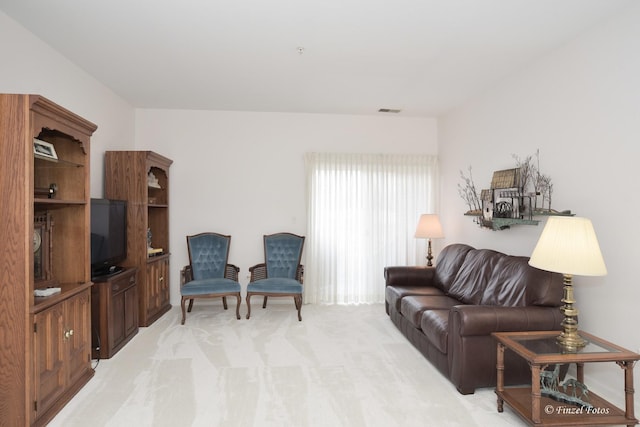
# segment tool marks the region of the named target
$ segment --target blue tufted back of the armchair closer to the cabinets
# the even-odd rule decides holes
[[[200,233],[187,236],[189,264],[194,280],[223,278],[231,236]]]

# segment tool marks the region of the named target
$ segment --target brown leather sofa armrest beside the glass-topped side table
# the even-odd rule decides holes
[[[560,330],[558,307],[502,307],[458,305],[451,309],[450,329],[459,336],[490,335],[492,332]]]

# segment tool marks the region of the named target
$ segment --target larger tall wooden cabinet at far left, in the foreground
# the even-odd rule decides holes
[[[89,142],[95,130],[41,96],[0,95],[2,425],[45,425],[93,376]],[[59,291],[34,296],[47,288]]]

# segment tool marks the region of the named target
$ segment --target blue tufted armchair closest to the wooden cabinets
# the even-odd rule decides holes
[[[240,269],[228,264],[231,236],[218,233],[200,233],[187,236],[189,265],[180,275],[180,295],[182,299],[182,324],[186,313],[185,302],[189,300],[188,312],[191,313],[196,298],[222,298],[227,309],[227,297],[236,297],[236,317],[240,319]]]

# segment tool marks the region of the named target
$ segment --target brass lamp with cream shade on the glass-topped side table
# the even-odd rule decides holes
[[[562,333],[557,341],[566,351],[575,352],[587,341],[578,334],[578,309],[574,307],[573,275],[604,276],[600,246],[591,221],[587,218],[551,216],[531,254],[529,265],[562,273],[564,294],[560,308],[564,314]]]

